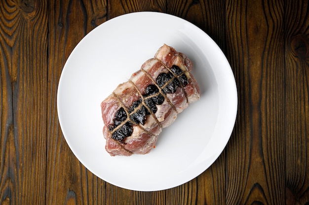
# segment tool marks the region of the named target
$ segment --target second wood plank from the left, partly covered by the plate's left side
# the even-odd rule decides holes
[[[67,145],[57,116],[62,68],[77,43],[106,21],[105,0],[49,1],[47,188],[48,204],[104,204],[105,182],[90,173]]]

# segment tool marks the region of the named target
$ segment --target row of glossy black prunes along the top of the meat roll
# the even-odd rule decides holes
[[[168,73],[160,73],[155,79],[156,84],[161,88],[161,93],[164,95],[166,93],[175,93],[178,87],[185,87],[189,84],[187,76],[177,65],[173,65],[170,70],[171,72]],[[156,105],[161,105],[165,100],[158,87],[152,84],[146,87],[143,98],[147,107],[141,105],[143,99],[140,98],[128,108],[129,118],[132,122],[145,125],[147,115],[151,115],[150,111],[153,114],[156,113]],[[126,111],[121,107],[113,118],[114,125],[108,125],[109,131],[113,132],[112,138],[120,143],[124,143],[124,139],[133,133],[133,124],[127,118]],[[123,123],[124,121],[126,122]]]

